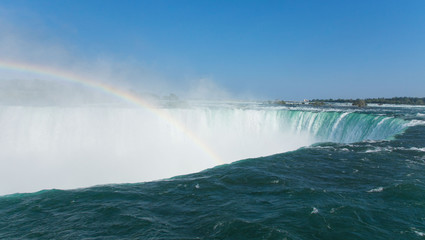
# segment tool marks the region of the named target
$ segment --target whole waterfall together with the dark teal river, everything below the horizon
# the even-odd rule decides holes
[[[423,239],[425,108],[0,106],[2,239]]]

